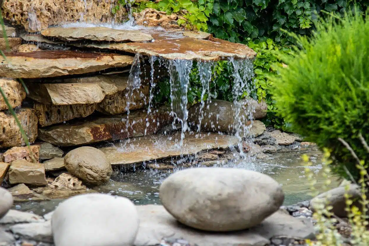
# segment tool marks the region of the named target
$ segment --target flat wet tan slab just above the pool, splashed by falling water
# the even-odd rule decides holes
[[[112,165],[129,165],[137,162],[179,155],[193,155],[205,149],[228,148],[237,145],[238,139],[231,135],[215,133],[186,134],[182,149],[179,148],[180,132],[175,135],[151,135],[130,139],[124,147],[120,144],[100,148]]]

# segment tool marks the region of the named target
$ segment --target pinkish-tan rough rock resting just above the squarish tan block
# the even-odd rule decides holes
[[[38,163],[40,147],[37,145],[25,147],[13,147],[4,153],[4,162],[11,163],[14,160],[26,160]]]

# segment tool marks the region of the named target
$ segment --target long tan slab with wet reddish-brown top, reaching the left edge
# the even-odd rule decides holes
[[[132,64],[133,57],[113,53],[77,51],[34,51],[29,53],[4,53],[7,61],[0,63],[4,77],[43,78],[92,73],[111,67]],[[8,64],[11,63],[10,64]]]

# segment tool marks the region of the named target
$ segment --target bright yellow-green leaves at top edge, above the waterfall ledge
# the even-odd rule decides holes
[[[167,14],[181,13],[187,19],[178,19],[178,25],[187,29],[207,31],[207,21],[210,14],[213,13],[214,0],[161,0],[161,1],[140,1],[137,3],[137,10],[145,8],[154,8],[159,11],[165,11]],[[184,11],[183,11],[184,10]]]

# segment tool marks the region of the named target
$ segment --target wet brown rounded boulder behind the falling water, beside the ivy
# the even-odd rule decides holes
[[[202,109],[201,109],[202,108]],[[265,131],[265,125],[261,121],[254,121],[251,127],[248,127],[251,122],[247,121],[247,113],[244,108],[241,108],[241,113],[238,116],[241,122],[244,122],[245,136],[258,136]],[[201,119],[202,118],[202,119]],[[211,102],[204,102],[194,104],[188,110],[188,122],[196,128],[200,124],[201,119],[201,130],[213,131],[213,132],[235,132],[234,126],[238,123],[235,114],[235,105],[231,102],[224,100],[211,100]]]

